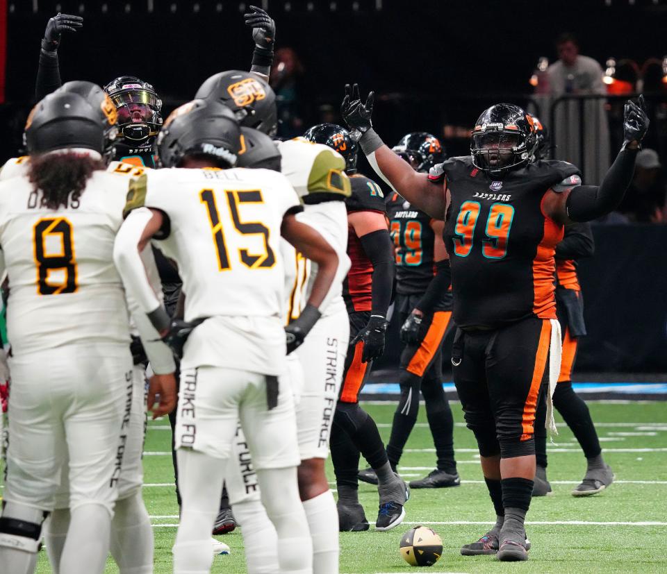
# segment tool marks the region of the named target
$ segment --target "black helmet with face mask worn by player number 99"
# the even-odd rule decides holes
[[[532,160],[537,137],[532,119],[518,105],[497,103],[484,110],[470,140],[475,167],[502,177]]]

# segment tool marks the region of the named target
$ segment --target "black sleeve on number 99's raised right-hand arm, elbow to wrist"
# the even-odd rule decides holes
[[[614,211],[632,182],[636,155],[636,149],[622,149],[599,187],[575,187],[566,203],[568,217],[572,221],[591,221]]]

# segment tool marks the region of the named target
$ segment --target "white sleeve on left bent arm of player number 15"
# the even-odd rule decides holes
[[[132,210],[120,226],[113,246],[113,261],[123,280],[128,298],[137,301],[138,307],[145,314],[154,312],[161,305],[137,248],[151,217],[151,212],[147,208]]]

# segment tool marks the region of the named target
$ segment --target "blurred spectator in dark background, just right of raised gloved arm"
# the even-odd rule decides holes
[[[292,48],[280,48],[271,69],[269,83],[276,92],[278,108],[278,137],[288,139],[304,133],[304,121],[299,116],[301,81],[304,75],[299,56]]]

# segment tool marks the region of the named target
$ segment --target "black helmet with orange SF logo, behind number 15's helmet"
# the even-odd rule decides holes
[[[199,86],[195,98],[224,103],[243,127],[270,136],[278,130],[276,94],[270,85],[249,71],[221,71]]]

